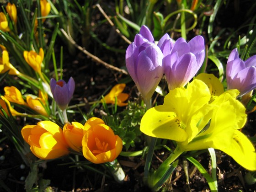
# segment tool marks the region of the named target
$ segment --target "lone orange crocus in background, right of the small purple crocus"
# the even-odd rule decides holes
[[[127,93],[122,93],[125,86],[126,85],[124,83],[113,86],[111,91],[106,96],[104,96],[105,102],[115,104],[117,98],[117,106],[127,106],[128,103],[124,103],[123,101],[126,101],[129,95]],[[102,99],[101,102],[104,102],[104,100]]]

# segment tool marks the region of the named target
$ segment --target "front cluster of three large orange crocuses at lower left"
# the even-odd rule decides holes
[[[23,139],[40,159],[55,159],[68,155],[71,150],[81,152],[96,164],[112,162],[121,153],[122,139],[102,119],[91,117],[81,123],[66,123],[64,128],[51,121],[27,125],[21,129]]]

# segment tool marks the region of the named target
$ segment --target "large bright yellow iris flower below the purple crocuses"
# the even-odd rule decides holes
[[[145,113],[140,130],[152,137],[176,141],[170,163],[184,151],[214,148],[255,171],[254,146],[239,130],[246,122],[245,107],[235,99],[239,91],[220,91],[213,98],[211,92],[216,89],[210,91],[210,84],[196,79],[186,89],[170,91],[163,105]]]

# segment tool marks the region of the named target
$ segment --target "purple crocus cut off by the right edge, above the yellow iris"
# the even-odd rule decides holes
[[[227,89],[237,89],[239,96],[256,88],[256,55],[246,61],[239,58],[237,48],[229,55],[226,67]]]

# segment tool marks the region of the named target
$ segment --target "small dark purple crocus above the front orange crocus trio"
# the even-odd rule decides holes
[[[50,87],[53,94],[53,99],[61,110],[65,110],[68,107],[69,101],[71,100],[75,91],[75,81],[72,77],[69,78],[68,83],[64,80],[50,81]]]

